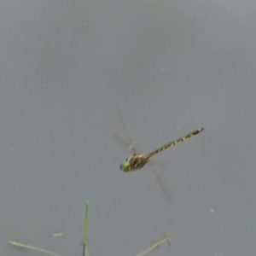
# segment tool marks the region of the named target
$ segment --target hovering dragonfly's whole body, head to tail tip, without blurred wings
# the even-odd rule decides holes
[[[172,148],[180,143],[183,143],[183,142],[189,140],[191,137],[195,137],[195,135],[199,134],[203,130],[204,130],[203,127],[198,128],[197,130],[192,131],[183,137],[179,137],[176,140],[174,140],[170,143],[167,143],[167,144],[161,146],[160,148],[155,149],[153,152],[151,152],[149,154],[139,154],[139,153],[137,153],[135,148],[131,148],[131,149],[133,149],[134,153],[131,154],[131,156],[129,158],[127,158],[126,160],[123,160],[119,167],[123,172],[131,172],[134,170],[142,169],[143,166],[145,166],[148,163],[148,160],[152,156],[154,156],[154,154],[158,154],[158,153],[166,150],[167,148]]]

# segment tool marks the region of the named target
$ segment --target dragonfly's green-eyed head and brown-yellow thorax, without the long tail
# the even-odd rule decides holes
[[[130,172],[132,170],[137,170],[143,168],[148,162],[148,157],[146,154],[131,154],[129,158],[123,160],[120,164],[120,169],[123,172]]]

